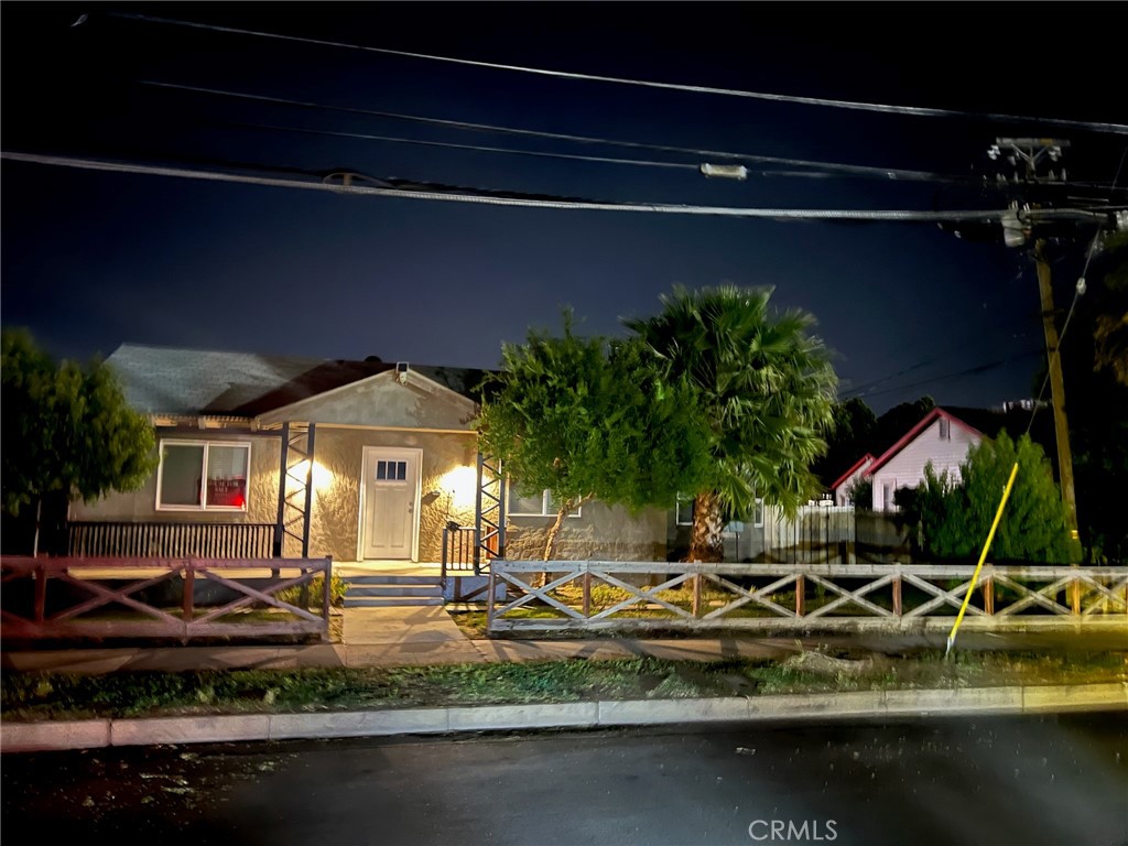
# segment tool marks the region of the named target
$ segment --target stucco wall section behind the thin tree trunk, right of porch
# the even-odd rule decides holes
[[[548,529],[555,519],[555,515],[509,517],[505,557],[511,561],[543,558]],[[666,511],[649,509],[632,515],[620,505],[587,502],[580,517],[564,521],[556,557],[562,561],[666,561]]]

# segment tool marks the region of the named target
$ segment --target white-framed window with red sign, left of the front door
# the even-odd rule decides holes
[[[250,444],[161,441],[157,509],[246,511]]]

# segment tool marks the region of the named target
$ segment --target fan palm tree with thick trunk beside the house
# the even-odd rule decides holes
[[[757,496],[793,515],[817,490],[811,462],[826,450],[837,377],[801,310],[772,314],[772,289],[733,285],[663,296],[656,317],[624,320],[699,393],[713,431],[713,466],[694,492],[690,561],[724,556],[725,515]]]

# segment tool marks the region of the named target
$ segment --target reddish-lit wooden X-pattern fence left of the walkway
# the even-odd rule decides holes
[[[328,637],[329,558],[3,557],[0,571],[0,637]]]

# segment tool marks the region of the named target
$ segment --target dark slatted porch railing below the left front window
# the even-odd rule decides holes
[[[72,557],[270,558],[274,523],[90,522],[68,530]]]

